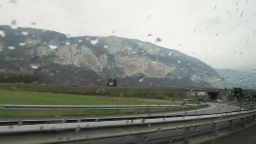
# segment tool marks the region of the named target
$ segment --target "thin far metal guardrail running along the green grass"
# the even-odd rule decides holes
[[[0,110],[109,110],[109,109],[161,109],[161,108],[179,108],[179,107],[197,107],[207,104],[184,104],[184,105],[124,105],[124,106],[69,106],[69,105],[14,105],[0,104]]]

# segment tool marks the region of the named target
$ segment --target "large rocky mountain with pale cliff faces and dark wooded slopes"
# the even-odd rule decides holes
[[[70,37],[59,32],[0,26],[0,70],[30,73],[40,83],[128,87],[215,87],[221,76],[176,50],[123,37]]]

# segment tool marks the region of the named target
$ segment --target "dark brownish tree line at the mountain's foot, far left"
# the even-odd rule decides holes
[[[0,83],[32,83],[39,80],[39,76],[35,74],[0,72]]]

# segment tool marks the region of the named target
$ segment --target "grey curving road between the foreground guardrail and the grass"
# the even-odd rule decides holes
[[[240,107],[220,104],[215,102],[207,102],[208,107],[194,109],[194,110],[182,110],[176,112],[158,112],[158,113],[147,113],[147,114],[128,114],[128,115],[103,115],[103,116],[62,116],[62,117],[19,117],[19,120],[56,120],[56,119],[86,119],[86,118],[125,118],[125,117],[147,117],[147,116],[167,116],[167,115],[203,115],[203,114],[214,114],[221,112],[232,112],[241,110]],[[247,108],[243,108],[247,109]],[[0,121],[4,120],[17,120],[17,118],[1,118]]]

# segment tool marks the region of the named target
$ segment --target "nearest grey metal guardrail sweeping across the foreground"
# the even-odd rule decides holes
[[[221,102],[223,104],[237,105]],[[251,107],[248,104],[239,104]],[[233,131],[239,124],[244,127],[255,120],[256,109],[212,115],[183,117],[140,118],[130,120],[96,121],[82,123],[55,123],[37,125],[0,126],[0,139],[4,144],[48,144],[74,141],[102,141],[112,143],[149,143],[160,139],[189,141],[190,136],[216,131]],[[115,140],[113,140],[115,139]]]

